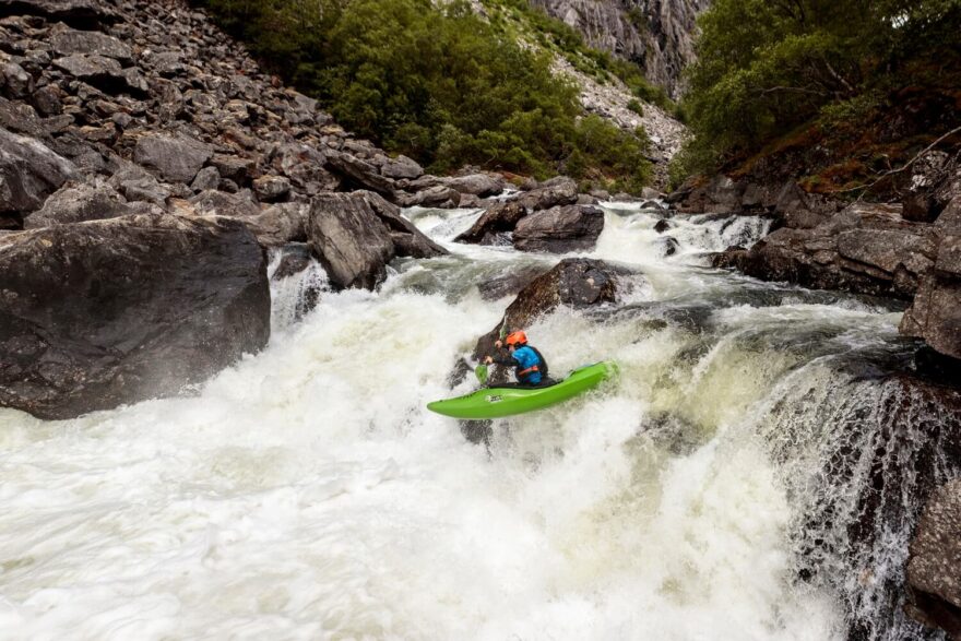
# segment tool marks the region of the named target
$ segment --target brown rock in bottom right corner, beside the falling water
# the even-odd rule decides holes
[[[961,638],[961,478],[925,506],[907,562],[907,614]]]

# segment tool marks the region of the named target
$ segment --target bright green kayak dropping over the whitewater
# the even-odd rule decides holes
[[[427,408],[454,418],[500,418],[543,409],[596,388],[601,381],[617,373],[609,360],[585,365],[566,379],[543,388],[482,388],[455,399],[427,404]]]

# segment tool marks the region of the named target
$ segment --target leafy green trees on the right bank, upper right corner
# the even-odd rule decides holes
[[[906,87],[925,96],[918,104],[961,98],[959,0],[716,0],[699,24],[684,103],[695,138],[678,176],[812,132],[838,154],[881,143],[892,138],[885,121],[906,105]],[[909,107],[899,114],[917,120]],[[915,129],[924,127],[928,140],[949,129],[937,118]],[[903,129],[902,136],[917,133]]]

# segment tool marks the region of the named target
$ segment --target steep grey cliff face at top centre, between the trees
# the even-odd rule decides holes
[[[588,43],[637,62],[672,97],[693,60],[698,13],[710,0],[530,0],[581,32]]]

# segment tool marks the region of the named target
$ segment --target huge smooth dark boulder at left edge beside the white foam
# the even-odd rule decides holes
[[[232,221],[0,236],[0,404],[70,418],[179,393],[266,345],[263,252]]]

